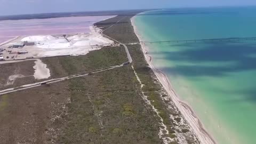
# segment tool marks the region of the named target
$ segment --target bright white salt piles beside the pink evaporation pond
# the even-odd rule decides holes
[[[35,46],[29,47],[36,49],[35,57],[84,55],[90,51],[99,50],[102,46],[114,44],[114,41],[94,31],[93,27],[91,27],[91,34],[77,34],[68,36],[67,39],[63,36],[37,35],[25,37],[21,41],[36,42]]]

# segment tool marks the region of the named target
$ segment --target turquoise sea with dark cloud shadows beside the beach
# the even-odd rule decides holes
[[[256,7],[151,11],[134,24],[142,41],[217,38],[146,46],[218,143],[256,143]]]

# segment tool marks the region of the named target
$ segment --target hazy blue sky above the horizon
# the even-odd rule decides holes
[[[0,15],[256,5],[255,0],[0,0]]]

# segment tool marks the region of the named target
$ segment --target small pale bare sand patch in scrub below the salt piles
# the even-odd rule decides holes
[[[35,61],[35,66],[33,68],[35,69],[35,79],[46,79],[51,76],[50,69],[39,59]]]

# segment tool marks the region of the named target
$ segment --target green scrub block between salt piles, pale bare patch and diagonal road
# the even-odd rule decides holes
[[[121,65],[127,61],[123,46],[105,46],[86,55],[42,58],[51,70],[51,77],[86,74],[90,71]]]

